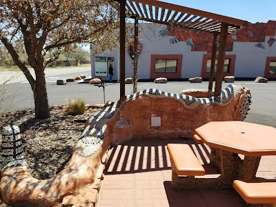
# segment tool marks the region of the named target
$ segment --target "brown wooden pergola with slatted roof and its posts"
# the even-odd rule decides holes
[[[125,44],[126,44],[126,17],[135,19],[135,48],[137,51],[138,42],[138,21],[144,20],[164,25],[189,28],[211,32],[213,38],[213,51],[210,66],[210,77],[208,90],[213,90],[213,79],[215,59],[217,56],[217,76],[215,77],[214,96],[221,91],[221,84],[224,76],[224,58],[226,52],[226,39],[228,34],[242,29],[247,21],[226,17],[219,14],[195,10],[172,3],[157,0],[115,0],[120,5],[120,98],[125,97]],[[217,55],[217,40],[219,36],[219,49]],[[137,54],[137,52],[135,52]],[[135,55],[137,61],[137,55]]]

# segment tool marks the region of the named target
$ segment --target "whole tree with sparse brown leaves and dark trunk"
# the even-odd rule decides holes
[[[34,93],[35,115],[50,116],[44,61],[50,50],[71,43],[93,42],[100,50],[117,44],[115,2],[108,0],[0,0],[0,40],[28,79]],[[20,60],[26,52],[32,77]]]

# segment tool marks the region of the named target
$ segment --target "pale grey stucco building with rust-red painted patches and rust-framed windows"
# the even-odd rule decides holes
[[[224,73],[236,79],[276,79],[276,21],[249,23],[228,37]],[[139,23],[138,78],[208,78],[213,34],[173,28],[157,23]],[[126,48],[126,77],[133,76],[130,48]],[[119,77],[119,50],[91,56],[91,75],[108,80],[108,67]]]

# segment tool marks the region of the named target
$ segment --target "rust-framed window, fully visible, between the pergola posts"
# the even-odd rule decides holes
[[[183,55],[151,55],[150,79],[166,77],[167,79],[180,79]]]

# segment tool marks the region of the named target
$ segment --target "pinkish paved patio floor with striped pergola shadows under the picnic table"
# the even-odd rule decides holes
[[[189,144],[202,164],[209,161],[210,148],[193,139],[141,139],[115,146],[109,152],[97,207],[246,206],[235,190],[173,190],[168,143]],[[262,157],[257,177],[276,177],[276,156]]]

